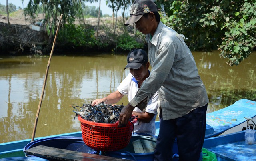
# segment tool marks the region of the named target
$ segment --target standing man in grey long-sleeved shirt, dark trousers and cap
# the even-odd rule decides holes
[[[192,53],[184,36],[160,21],[152,0],[132,3],[130,18],[124,25],[134,23],[146,35],[152,70],[134,98],[122,109],[119,124],[128,123],[134,107],[157,91],[160,131],[154,160],[172,160],[172,146],[177,138],[179,161],[198,161],[209,100]]]

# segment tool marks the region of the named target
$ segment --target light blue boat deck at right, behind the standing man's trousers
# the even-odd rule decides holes
[[[234,104],[206,114],[205,138],[242,131],[247,127],[246,118],[256,122],[256,102],[240,99]]]

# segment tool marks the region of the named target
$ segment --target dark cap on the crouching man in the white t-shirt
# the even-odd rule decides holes
[[[134,49],[127,55],[127,65],[124,69],[138,69],[145,62],[148,62],[148,54],[142,49]]]

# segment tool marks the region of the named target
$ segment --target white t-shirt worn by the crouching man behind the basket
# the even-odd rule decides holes
[[[136,95],[138,91],[138,81],[132,76],[131,73],[129,73],[126,78],[120,83],[120,85],[117,87],[117,90],[122,95],[128,95],[128,101],[132,100],[132,98]],[[146,112],[148,113],[155,113],[157,114],[157,108],[158,108],[158,93],[156,92],[153,97],[149,100]],[[137,107],[134,108],[133,111],[136,112],[142,112]],[[137,121],[134,124],[134,132],[135,133],[146,133],[149,135],[155,135],[156,134],[156,115],[154,118],[150,121],[150,123],[143,123],[142,121]]]

